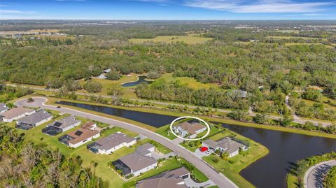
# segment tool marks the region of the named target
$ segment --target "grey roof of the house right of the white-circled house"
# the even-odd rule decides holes
[[[208,140],[204,140],[203,143],[211,147],[214,147],[214,148],[221,147],[223,150],[226,150],[229,153],[235,152],[239,150],[239,148],[246,146],[242,143],[237,142],[236,140],[233,140],[230,137],[221,138],[217,141],[208,139]]]

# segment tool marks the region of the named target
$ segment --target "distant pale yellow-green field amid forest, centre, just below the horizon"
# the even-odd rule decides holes
[[[157,36],[155,38],[131,38],[130,43],[176,43],[184,42],[190,45],[211,41],[214,38],[202,37],[197,34],[188,34],[187,36]]]

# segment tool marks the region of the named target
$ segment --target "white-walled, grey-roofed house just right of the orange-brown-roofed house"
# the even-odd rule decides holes
[[[136,138],[132,138],[125,135],[124,133],[117,132],[87,145],[87,150],[99,154],[111,154],[121,147],[130,147],[135,143],[137,143]]]

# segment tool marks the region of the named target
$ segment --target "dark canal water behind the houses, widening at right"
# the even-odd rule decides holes
[[[170,124],[170,122],[176,118],[169,115],[93,106],[83,103],[65,101],[59,101],[57,103],[124,117],[155,127]],[[268,148],[269,154],[267,154],[267,156],[262,157],[262,159],[259,159],[241,171],[241,175],[255,185],[255,187],[286,187],[286,175],[288,170],[297,160],[325,152],[336,152],[336,139],[304,136],[297,133],[286,133],[283,131],[272,131],[232,124],[223,124],[223,126],[231,131],[251,138]]]

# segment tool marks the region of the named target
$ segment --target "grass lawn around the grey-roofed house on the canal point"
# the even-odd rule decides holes
[[[229,136],[230,134],[235,134],[232,131],[225,132],[226,133],[223,133],[223,135],[216,134],[215,136],[211,137],[211,139],[218,140],[219,138]],[[207,163],[216,168],[218,171],[221,171],[221,173],[226,175],[230,180],[232,180],[232,182],[235,182],[238,187],[253,187],[250,182],[239,175],[239,172],[246,168],[249,164],[257,161],[261,157],[264,157],[268,153],[268,150],[260,143],[256,143],[255,141],[244,136],[237,135],[236,138],[250,143],[248,150],[241,152],[241,154],[238,154],[235,157],[231,157],[228,160],[223,160],[221,157],[218,157],[215,154],[203,157],[202,159],[207,161]],[[214,159],[218,159],[218,162],[214,162]]]

